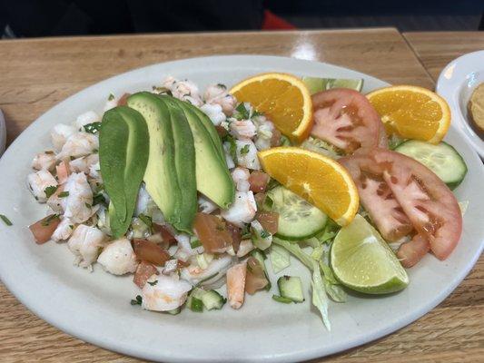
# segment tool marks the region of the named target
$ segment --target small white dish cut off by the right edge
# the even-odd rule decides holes
[[[484,50],[464,54],[447,64],[436,87],[437,93],[449,103],[452,124],[466,136],[481,158],[484,158],[484,140],[470,125],[467,105],[474,89],[483,82]]]

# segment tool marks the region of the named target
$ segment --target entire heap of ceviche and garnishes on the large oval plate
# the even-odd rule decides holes
[[[202,91],[170,76],[110,94],[35,155],[27,185],[48,212],[29,228],[79,268],[133,275],[126,301],[143,309],[241,309],[265,290],[310,299],[330,329],[331,301],[404,289],[462,230],[445,101],[362,83],[272,73]]]

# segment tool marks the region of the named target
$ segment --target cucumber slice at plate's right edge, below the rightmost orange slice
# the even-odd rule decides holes
[[[434,145],[429,142],[409,140],[401,143],[395,148],[395,151],[410,156],[410,158],[427,166],[450,189],[457,188],[467,173],[467,165],[464,159],[447,142]]]

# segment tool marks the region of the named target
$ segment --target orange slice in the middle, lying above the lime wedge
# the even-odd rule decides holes
[[[324,211],[341,226],[360,206],[356,186],[341,164],[316,152],[277,147],[259,152],[265,172],[286,188]]]

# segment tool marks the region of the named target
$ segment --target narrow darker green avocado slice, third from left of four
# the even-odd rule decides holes
[[[166,101],[162,99],[170,113],[174,142],[174,170],[182,192],[180,221],[175,223],[174,227],[178,231],[193,234],[193,219],[197,211],[197,185],[192,131],[183,110],[176,104]]]

